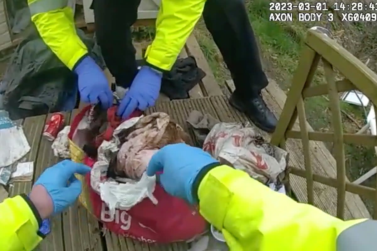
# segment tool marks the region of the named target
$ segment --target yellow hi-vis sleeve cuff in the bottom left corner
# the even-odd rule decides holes
[[[0,203],[0,250],[30,251],[42,237],[39,214],[26,195],[17,195]]]

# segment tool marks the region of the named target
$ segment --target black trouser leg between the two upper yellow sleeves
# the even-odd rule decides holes
[[[97,43],[117,84],[128,87],[137,73],[130,27],[140,0],[93,0]]]

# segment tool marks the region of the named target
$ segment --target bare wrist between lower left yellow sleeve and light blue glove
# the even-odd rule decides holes
[[[54,212],[54,202],[43,185],[34,185],[29,194],[29,199],[42,219],[49,218]]]

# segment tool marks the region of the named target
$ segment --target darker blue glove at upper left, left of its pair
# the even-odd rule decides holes
[[[81,100],[92,105],[101,102],[104,109],[112,106],[113,93],[106,76],[90,56],[83,58],[74,68],[74,72],[78,75]]]

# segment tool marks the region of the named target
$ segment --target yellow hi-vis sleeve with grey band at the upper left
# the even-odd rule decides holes
[[[31,20],[44,43],[70,70],[88,51],[78,37],[67,0],[28,0]]]

